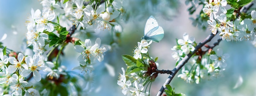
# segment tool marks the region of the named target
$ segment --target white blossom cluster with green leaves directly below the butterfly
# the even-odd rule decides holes
[[[152,60],[148,56],[148,48],[152,43],[151,41],[141,40],[138,42],[138,46],[135,47],[134,56],[123,56],[124,61],[128,65],[126,71],[122,67],[123,74],[119,75],[117,84],[121,87],[122,93],[128,96],[148,96],[149,92],[146,92],[144,86],[153,82],[157,77],[155,70],[158,67],[158,63]],[[128,61],[132,63],[128,63]]]

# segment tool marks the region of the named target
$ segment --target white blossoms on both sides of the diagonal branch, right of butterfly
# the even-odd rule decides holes
[[[177,40],[172,50],[172,57],[179,63],[186,55],[195,50],[195,38],[190,37],[187,33],[183,34],[183,39]],[[218,76],[220,71],[225,70],[227,66],[225,59],[229,58],[228,54],[222,54],[222,49],[217,51],[198,51],[188,61],[189,65],[182,67],[182,74],[178,77],[186,80],[187,83],[200,83],[201,78]],[[207,75],[207,76],[205,76]]]

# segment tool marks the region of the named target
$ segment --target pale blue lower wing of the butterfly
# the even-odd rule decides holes
[[[164,38],[164,29],[160,26],[154,27],[143,37],[145,40],[153,40],[154,42],[159,42]]]

